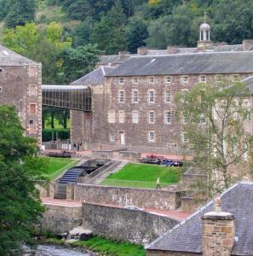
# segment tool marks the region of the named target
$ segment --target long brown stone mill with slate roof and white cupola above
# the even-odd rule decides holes
[[[101,56],[93,73],[72,83],[92,89],[91,113],[72,111],[72,142],[180,153],[187,137],[183,120],[175,119],[175,94],[199,82],[253,75],[253,41],[215,44],[206,23],[199,34],[196,48],[141,48],[137,55]]]

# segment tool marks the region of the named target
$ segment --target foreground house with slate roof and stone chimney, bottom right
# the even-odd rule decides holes
[[[253,183],[238,183],[147,246],[147,255],[252,255]]]

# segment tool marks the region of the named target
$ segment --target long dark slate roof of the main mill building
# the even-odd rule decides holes
[[[107,76],[252,73],[253,52],[135,56]]]

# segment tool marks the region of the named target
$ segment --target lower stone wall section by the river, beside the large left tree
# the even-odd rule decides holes
[[[56,205],[45,205],[47,211],[43,213],[41,230],[50,230],[51,232],[63,233],[66,230],[82,224],[82,207],[66,207]]]

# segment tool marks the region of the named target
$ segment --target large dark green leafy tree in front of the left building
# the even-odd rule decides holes
[[[24,129],[14,107],[0,107],[0,254],[13,251],[24,242],[32,242],[34,224],[43,207],[35,188],[41,179],[43,160],[37,155],[37,143],[23,136]]]

